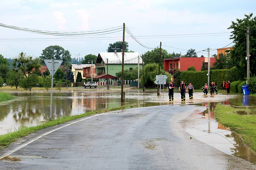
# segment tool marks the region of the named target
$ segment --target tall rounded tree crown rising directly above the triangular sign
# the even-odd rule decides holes
[[[65,50],[63,47],[54,45],[49,46],[43,49],[41,56],[39,56],[42,64],[45,65],[44,59],[55,59],[55,60],[63,60],[63,62],[71,62],[71,55],[68,50]]]

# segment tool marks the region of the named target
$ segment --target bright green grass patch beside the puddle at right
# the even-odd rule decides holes
[[[256,115],[238,115],[237,111],[246,111],[246,109],[217,105],[214,116],[218,122],[239,134],[244,143],[256,151]]]

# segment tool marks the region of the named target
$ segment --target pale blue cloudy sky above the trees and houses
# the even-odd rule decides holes
[[[196,51],[212,48],[210,54],[217,53],[216,48],[232,42],[229,39],[232,30],[228,29],[231,21],[244,18],[244,14],[256,14],[254,0],[0,0],[0,4],[1,24],[56,32],[86,32],[125,23],[145,46],[157,47],[161,41],[162,48],[169,53],[181,55],[190,48]],[[70,39],[0,27],[0,54],[13,58],[25,52],[38,57],[44,48],[60,45],[72,58],[77,54],[80,57],[98,55],[107,52],[109,43],[122,41],[122,34],[120,31]],[[125,41],[129,50],[140,55],[151,50],[126,32]]]

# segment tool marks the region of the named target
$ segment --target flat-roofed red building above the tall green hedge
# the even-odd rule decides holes
[[[178,69],[180,71],[187,71],[189,67],[194,66],[196,71],[201,71],[203,61],[206,63],[206,68],[208,67],[207,57],[175,57],[164,59],[164,70],[169,71],[170,69]],[[210,65],[215,62],[215,57],[210,57]],[[173,65],[172,65],[173,63]]]

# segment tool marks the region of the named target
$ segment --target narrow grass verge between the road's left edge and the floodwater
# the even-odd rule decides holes
[[[27,136],[28,134],[33,133],[40,129],[44,129],[44,128],[51,127],[51,126],[54,126],[57,124],[65,123],[65,122],[75,120],[75,119],[78,119],[78,118],[81,118],[84,116],[90,116],[90,115],[94,115],[97,113],[104,113],[104,112],[110,112],[110,111],[114,111],[114,110],[120,110],[120,109],[128,108],[130,106],[132,106],[132,105],[125,105],[125,106],[114,107],[114,108],[110,108],[110,109],[91,111],[91,112],[86,112],[81,115],[65,116],[65,117],[61,117],[61,118],[54,119],[51,121],[42,122],[36,126],[29,126],[29,127],[21,126],[19,129],[15,130],[14,132],[0,135],[0,149],[8,147],[11,142],[14,142],[17,139],[19,139],[20,137]]]

